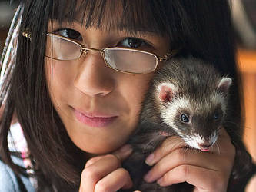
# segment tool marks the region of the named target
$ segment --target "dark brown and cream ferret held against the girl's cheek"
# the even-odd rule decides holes
[[[133,180],[131,190],[142,192],[189,192],[188,183],[160,187],[146,183],[151,169],[145,158],[167,137],[178,136],[188,147],[209,151],[228,111],[228,90],[232,79],[195,58],[172,59],[156,72],[142,104],[138,128],[128,141],[133,154],[123,163]]]

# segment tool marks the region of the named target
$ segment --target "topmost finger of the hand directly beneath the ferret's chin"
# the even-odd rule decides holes
[[[211,161],[211,164],[209,164],[209,161]],[[185,164],[204,167],[211,170],[218,170],[220,168],[220,164],[228,163],[229,161],[226,162],[226,159],[223,159],[223,157],[216,154],[180,148],[158,161],[158,163],[155,164],[155,166],[152,167],[151,170],[145,175],[144,179],[151,183],[158,180],[169,170]]]

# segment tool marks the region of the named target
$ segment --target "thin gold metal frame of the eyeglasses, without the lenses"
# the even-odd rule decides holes
[[[69,38],[66,38],[66,37],[63,37],[62,35],[57,35],[57,34],[54,34],[54,33],[46,33],[46,35],[48,36],[56,36],[58,38],[62,38],[66,41],[70,41],[72,43],[74,43],[75,45],[78,45],[80,47],[80,56],[78,58],[75,58],[75,59],[71,59],[71,60],[63,60],[63,59],[58,59],[58,58],[52,58],[52,57],[49,57],[49,56],[46,56],[47,58],[52,58],[52,59],[55,59],[57,61],[75,61],[75,60],[78,60],[79,58],[81,58],[81,55],[84,53],[85,55],[88,53],[88,51],[98,51],[101,53],[101,57],[104,59],[105,61],[105,65],[108,66],[108,68],[111,68],[115,71],[119,71],[121,73],[125,73],[125,74],[148,74],[148,73],[151,73],[153,71],[155,71],[156,68],[158,68],[158,63],[159,62],[165,62],[165,61],[168,61],[171,57],[173,57],[174,55],[176,55],[179,51],[179,49],[174,49],[174,50],[171,50],[171,53],[167,53],[165,55],[165,57],[159,57],[158,55],[155,55],[155,53],[151,52],[151,51],[142,51],[142,50],[139,50],[139,49],[136,49],[136,48],[122,48],[122,47],[109,47],[109,48],[102,48],[102,49],[98,49],[98,48],[87,48],[85,47],[84,45],[81,45],[81,43],[77,42],[77,41],[73,41]],[[25,38],[28,38],[30,41],[31,41],[31,33],[29,33],[28,31],[23,31],[22,32],[22,36],[25,37]],[[145,53],[145,54],[148,54],[148,55],[152,55],[156,58],[156,64],[155,64],[155,68],[152,70],[152,71],[149,71],[149,72],[146,72],[146,73],[136,73],[136,72],[128,72],[128,71],[121,71],[117,68],[113,68],[111,67],[109,64],[108,64],[108,61],[105,60],[105,50],[110,50],[110,49],[119,49],[119,50],[129,50],[129,51],[136,51],[136,52],[141,52],[141,53]]]

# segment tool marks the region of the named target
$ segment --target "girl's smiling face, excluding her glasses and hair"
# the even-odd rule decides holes
[[[168,38],[149,32],[105,31],[84,28],[78,22],[62,26],[53,22],[48,31],[89,48],[137,48],[159,56],[169,50]],[[141,102],[153,73],[115,71],[105,65],[97,51],[88,51],[75,61],[45,59],[52,102],[71,141],[91,154],[105,154],[125,144],[138,124]]]

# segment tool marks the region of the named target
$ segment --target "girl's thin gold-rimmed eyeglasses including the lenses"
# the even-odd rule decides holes
[[[26,37],[26,35],[23,35]],[[28,36],[28,35],[27,35]],[[45,56],[59,61],[74,61],[88,51],[98,51],[109,68],[128,74],[147,74],[158,67],[159,61],[167,61],[178,50],[171,51],[160,58],[154,53],[133,48],[85,48],[83,45],[61,35],[48,33]]]

